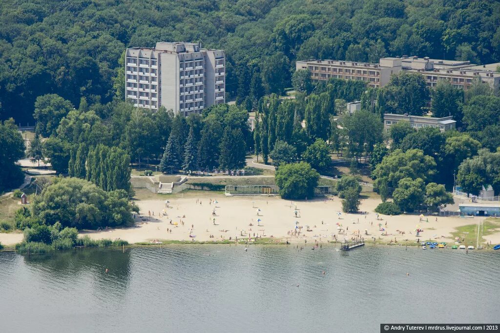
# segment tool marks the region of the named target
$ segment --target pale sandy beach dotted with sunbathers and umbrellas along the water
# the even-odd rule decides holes
[[[165,203],[165,200],[169,202]],[[136,201],[140,214],[135,217],[137,221],[135,227],[82,232],[81,234],[93,239],[119,238],[129,243],[148,242],[155,239],[185,242],[193,239],[220,241],[229,238],[234,240],[236,237],[237,239],[247,239],[248,236],[254,238],[257,235],[282,241],[288,240],[291,243],[304,243],[305,240],[343,241],[350,240],[357,235],[365,241],[370,241],[374,237],[382,242],[391,240],[401,242],[406,239],[409,241],[435,239],[452,242],[450,233],[455,227],[479,221],[479,218],[459,217],[438,217],[436,221],[435,217],[428,217],[428,222],[426,222],[427,217],[419,221],[416,215],[380,215],[381,220],[376,220],[376,213],[373,210],[379,203],[379,199],[363,199],[360,210],[366,214],[345,214],[341,213],[341,199],[337,197],[295,202],[279,197],[226,197],[209,192],[190,192],[182,197],[158,196],[157,199]],[[257,210],[259,210],[258,215]],[[295,217],[295,211],[297,217]],[[295,230],[299,230],[295,226],[302,227],[299,234],[294,233]],[[423,229],[418,237],[415,232],[417,226]],[[380,228],[384,230],[381,231]],[[306,231],[307,229],[311,231]],[[367,230],[367,235],[365,235],[365,230]],[[189,235],[194,237],[189,237]],[[484,238],[492,243],[498,243],[500,231]],[[4,245],[14,244],[21,240],[22,234],[0,234],[0,242]]]

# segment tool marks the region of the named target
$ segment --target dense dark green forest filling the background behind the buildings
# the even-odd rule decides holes
[[[494,0],[4,0],[0,11],[0,119],[23,123],[47,93],[111,101],[124,48],[157,41],[224,49],[227,94],[254,105],[291,86],[296,59],[500,61]]]

